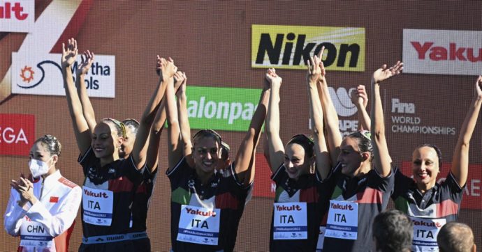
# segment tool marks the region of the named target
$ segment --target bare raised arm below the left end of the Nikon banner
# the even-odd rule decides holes
[[[275,69],[268,69],[266,81],[271,85],[270,99],[268,103],[268,113],[265,120],[265,132],[268,138],[270,167],[275,173],[279,166],[284,162],[284,146],[279,137],[279,88],[281,88],[282,78],[279,77]]]

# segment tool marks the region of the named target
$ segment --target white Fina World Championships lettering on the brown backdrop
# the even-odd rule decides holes
[[[402,102],[399,98],[392,98],[392,132],[402,134],[434,134],[455,135],[455,127],[438,125],[423,125],[420,117],[416,116],[414,103]]]

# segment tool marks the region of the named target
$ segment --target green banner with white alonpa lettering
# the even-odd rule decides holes
[[[261,89],[188,86],[186,95],[191,129],[246,132]]]

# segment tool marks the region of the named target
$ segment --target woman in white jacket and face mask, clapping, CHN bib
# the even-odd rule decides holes
[[[9,235],[20,235],[18,251],[68,251],[82,191],[55,167],[60,149],[55,136],[37,139],[29,155],[30,178],[10,182],[3,224]]]

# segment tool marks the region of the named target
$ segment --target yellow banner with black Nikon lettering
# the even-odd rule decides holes
[[[310,56],[325,47],[328,70],[365,71],[365,28],[251,26],[251,67],[306,69]]]

